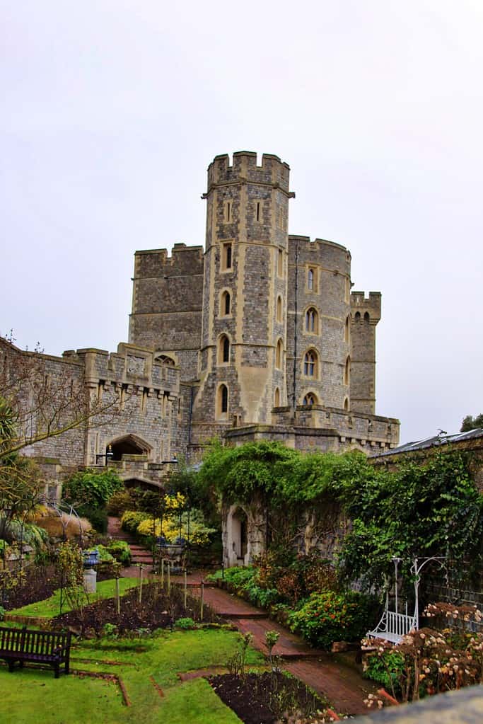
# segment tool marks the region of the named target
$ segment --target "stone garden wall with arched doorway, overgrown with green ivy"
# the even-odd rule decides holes
[[[474,455],[446,447],[391,468],[356,451],[302,454],[273,442],[215,443],[199,476],[223,501],[227,565],[236,564],[232,553],[241,545],[228,534],[230,510],[238,507],[247,514],[247,543],[257,539],[257,552],[267,544],[304,553],[316,548],[335,560],[348,583],[366,588],[380,586],[393,556],[401,557],[401,573],[408,575],[415,556],[444,556],[447,587],[477,592],[483,497]],[[241,565],[252,560],[247,554]]]

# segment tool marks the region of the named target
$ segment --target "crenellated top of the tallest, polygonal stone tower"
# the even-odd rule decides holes
[[[254,151],[236,151],[230,165],[228,153],[215,156],[208,167],[208,191],[218,185],[230,183],[255,183],[271,185],[288,191],[290,167],[273,153],[263,153],[262,163],[257,165],[257,153]]]

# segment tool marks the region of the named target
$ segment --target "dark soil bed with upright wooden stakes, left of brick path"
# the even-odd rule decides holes
[[[200,600],[187,596],[184,607],[184,592],[179,586],[171,586],[171,592],[161,589],[158,583],[142,586],[142,600],[139,589],[134,588],[121,597],[121,613],[116,611],[116,599],[103,599],[85,606],[80,611],[69,611],[52,619],[54,627],[69,627],[74,631],[103,633],[106,623],[117,626],[118,633],[137,631],[140,628],[154,631],[155,628],[171,628],[179,618],[192,618],[200,623]],[[203,608],[202,623],[223,623],[221,618],[207,605]]]

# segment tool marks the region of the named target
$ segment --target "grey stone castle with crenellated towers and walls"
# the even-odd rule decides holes
[[[380,292],[351,291],[343,246],[288,235],[289,174],[271,154],[260,165],[248,151],[231,164],[216,156],[205,249],[135,253],[129,343],[41,355],[46,374],[81,375],[92,394],[119,401],[112,420],[27,449],[53,481],[104,464],[109,445],[109,464],[147,484],[160,484],[174,455],[196,462],[215,435],[299,450],[396,447],[398,420],[375,415]],[[0,354],[33,353],[3,343]]]

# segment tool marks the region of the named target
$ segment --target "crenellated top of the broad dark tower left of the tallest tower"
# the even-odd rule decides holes
[[[167,249],[149,249],[134,254],[134,279],[202,273],[202,246],[187,246],[179,242],[171,249],[171,256]]]

